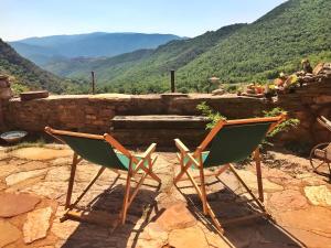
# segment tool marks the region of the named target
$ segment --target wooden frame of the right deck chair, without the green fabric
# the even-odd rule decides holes
[[[191,181],[193,184],[201,202],[202,202],[202,207],[203,207],[203,214],[204,215],[210,215],[213,223],[216,226],[216,229],[223,234],[224,229],[216,218],[213,209],[211,208],[207,200],[206,200],[206,191],[205,191],[205,182],[204,179],[205,176],[220,176],[223,172],[226,170],[229,170],[235,177],[239,181],[239,183],[245,187],[247,193],[252,196],[253,202],[257,204],[257,207],[260,209],[260,213],[249,215],[249,216],[244,216],[244,217],[237,217],[233,219],[228,219],[226,222],[223,222],[223,225],[225,224],[233,224],[237,222],[243,222],[252,218],[256,218],[259,216],[266,216],[270,218],[270,214],[267,213],[263,202],[264,202],[264,190],[263,190],[263,181],[261,181],[261,169],[260,169],[260,153],[259,153],[259,148],[257,147],[253,153],[253,158],[256,163],[256,174],[257,174],[257,186],[258,186],[258,197],[255,196],[255,194],[250,191],[250,188],[247,186],[247,184],[243,181],[243,179],[238,175],[238,173],[235,171],[234,166],[228,163],[223,165],[218,171],[215,173],[211,174],[204,174],[203,171],[203,159],[202,159],[202,152],[206,149],[206,147],[210,144],[210,142],[213,140],[213,138],[218,133],[218,131],[224,127],[224,126],[231,126],[231,125],[246,125],[246,123],[257,123],[257,122],[269,122],[273,121],[274,123],[270,126],[268,132],[270,132],[278,123],[284,121],[286,119],[286,115],[280,115],[279,117],[267,117],[267,118],[252,118],[252,119],[239,119],[239,120],[221,120],[217,122],[217,125],[211,130],[211,132],[206,136],[206,138],[201,142],[201,144],[196,148],[194,152],[190,152],[190,150],[181,142],[179,139],[174,139],[175,145],[179,149],[179,153],[177,153],[181,171],[179,174],[174,177],[173,182],[177,184],[179,181],[182,181],[182,176],[186,174],[188,179]],[[186,162],[184,162],[184,158],[189,158]],[[200,175],[199,176],[192,176],[191,173],[189,172],[189,169],[194,165],[199,169]],[[220,164],[221,165],[221,164]],[[199,184],[194,181],[195,177],[200,177],[200,186]]]

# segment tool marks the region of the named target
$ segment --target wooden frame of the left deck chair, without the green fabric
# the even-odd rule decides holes
[[[64,134],[64,136],[72,136],[72,137],[81,137],[81,138],[87,138],[87,139],[96,139],[96,140],[105,140],[108,142],[113,148],[115,148],[117,151],[121,152],[125,154],[129,160],[129,169],[126,177],[126,187],[125,187],[125,195],[124,195],[124,201],[122,201],[122,209],[119,213],[119,220],[120,224],[125,224],[126,222],[126,216],[127,216],[127,211],[129,206],[131,205],[135,196],[137,195],[139,187],[142,185],[145,179],[149,176],[150,179],[157,181],[158,183],[161,183],[161,180],[152,172],[152,166],[156,163],[158,155],[152,158],[153,152],[156,151],[156,143],[150,144],[150,147],[143,152],[142,155],[139,155],[141,160],[138,160],[131,152],[129,152],[125,147],[122,147],[117,140],[115,140],[110,134],[105,133],[104,136],[96,136],[96,134],[88,134],[88,133],[82,133],[82,132],[71,132],[71,131],[63,131],[63,130],[55,130],[50,127],[45,128],[45,132],[54,137],[55,139],[62,141],[65,143],[60,137],[56,134]],[[75,173],[76,173],[76,168],[79,162],[83,161],[83,158],[79,158],[77,153],[74,152],[73,155],[73,163],[71,168],[71,176],[68,181],[68,187],[67,187],[67,194],[66,194],[66,201],[65,201],[65,214],[63,216],[63,220],[67,219],[68,217],[78,219],[78,220],[87,220],[84,215],[78,214],[77,212],[73,211],[78,202],[83,198],[83,196],[87,193],[87,191],[93,186],[93,184],[97,181],[97,179],[102,175],[102,173],[106,170],[106,166],[102,166],[100,170],[96,173],[96,175],[90,180],[90,182],[87,184],[87,186],[83,190],[83,193],[77,197],[77,200],[72,204],[72,193],[73,193],[73,187],[74,187],[74,180],[75,180]],[[148,168],[145,166],[145,163],[148,163]],[[136,166],[134,168],[134,163]],[[116,177],[119,179],[120,173],[118,170],[113,170],[115,173],[118,174]],[[139,171],[143,171],[143,174],[140,176],[140,180],[138,181],[136,188],[132,190],[131,192],[131,180],[138,174]],[[116,182],[115,180],[115,182]],[[113,183],[113,186],[115,184]],[[94,220],[92,220],[94,222]],[[94,222],[95,223],[95,222]]]

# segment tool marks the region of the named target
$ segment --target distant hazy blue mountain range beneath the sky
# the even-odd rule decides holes
[[[110,57],[141,48],[156,48],[182,37],[173,34],[105,33],[29,37],[9,44],[38,65],[73,57]]]

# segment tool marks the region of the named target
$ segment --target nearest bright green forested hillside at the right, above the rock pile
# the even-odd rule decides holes
[[[298,69],[303,57],[330,61],[330,10],[329,0],[290,0],[180,68],[179,80],[264,82]]]

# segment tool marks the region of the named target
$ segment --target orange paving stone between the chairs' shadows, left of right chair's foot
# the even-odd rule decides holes
[[[161,214],[157,224],[166,230],[172,230],[193,226],[196,224],[196,219],[184,203],[177,203]]]

